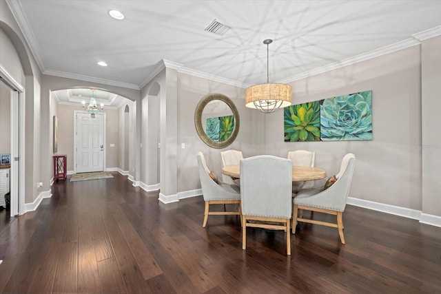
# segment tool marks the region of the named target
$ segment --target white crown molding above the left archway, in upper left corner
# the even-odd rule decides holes
[[[6,4],[8,4],[9,10],[12,13],[17,25],[25,38],[26,43],[34,56],[35,61],[37,61],[37,65],[39,65],[40,71],[45,72],[46,67],[43,61],[43,54],[41,54],[41,50],[37,43],[37,39],[34,36],[34,33],[30,29],[30,25],[28,19],[25,17],[25,13],[23,12],[23,8],[19,1],[6,0]]]

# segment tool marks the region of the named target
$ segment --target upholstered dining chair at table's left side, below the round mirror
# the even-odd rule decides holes
[[[204,222],[202,227],[205,228],[208,216],[240,216],[239,188],[236,185],[217,183],[215,179],[212,179],[209,176],[210,171],[205,162],[203,153],[198,152],[196,157],[198,159],[199,178],[201,179],[202,193],[205,201]],[[238,211],[209,211],[210,204],[238,204]]]

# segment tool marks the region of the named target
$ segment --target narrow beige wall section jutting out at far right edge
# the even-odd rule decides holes
[[[422,212],[441,217],[441,36],[422,41]]]

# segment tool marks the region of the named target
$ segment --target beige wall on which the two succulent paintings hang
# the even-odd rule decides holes
[[[373,140],[284,142],[283,111],[265,116],[267,154],[316,152],[316,167],[338,173],[356,156],[349,196],[421,211],[420,45],[291,83],[293,104],[372,90]],[[316,186],[325,180],[316,181]]]

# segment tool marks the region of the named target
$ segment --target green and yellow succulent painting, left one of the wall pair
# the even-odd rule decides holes
[[[320,140],[320,101],[291,105],[283,113],[285,142]]]

